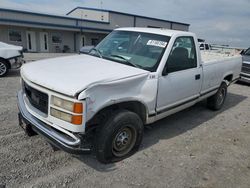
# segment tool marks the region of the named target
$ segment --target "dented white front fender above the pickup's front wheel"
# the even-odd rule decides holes
[[[146,107],[147,114],[153,113],[156,95],[157,76],[155,73],[147,73],[91,84],[78,95],[78,100],[86,101],[86,121],[88,121],[103,108],[121,102],[140,102]]]

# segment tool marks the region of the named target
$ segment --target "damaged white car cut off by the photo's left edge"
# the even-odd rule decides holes
[[[0,77],[6,76],[10,69],[20,68],[23,63],[23,47],[0,42]]]

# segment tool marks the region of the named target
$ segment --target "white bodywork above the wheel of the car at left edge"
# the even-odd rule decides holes
[[[22,50],[22,46],[15,46],[0,42],[0,57],[3,57],[5,59],[20,56]]]

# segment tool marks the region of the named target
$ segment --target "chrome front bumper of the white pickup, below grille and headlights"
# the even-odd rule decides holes
[[[78,138],[77,136],[70,137],[30,114],[25,106],[22,91],[18,92],[17,99],[20,111],[18,115],[19,125],[26,132],[34,131],[37,134],[44,136],[53,146],[71,154],[83,154],[91,151],[90,148],[83,147],[83,139]]]

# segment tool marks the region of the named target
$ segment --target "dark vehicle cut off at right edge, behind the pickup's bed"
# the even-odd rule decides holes
[[[241,55],[243,58],[243,64],[240,74],[240,81],[250,83],[250,48],[244,50]]]

